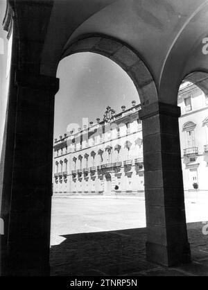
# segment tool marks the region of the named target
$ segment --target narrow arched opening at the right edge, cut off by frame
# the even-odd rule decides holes
[[[178,93],[180,147],[187,229],[192,258],[200,262],[208,220],[207,102],[208,74],[200,71],[182,81]],[[193,242],[197,235],[198,245]]]

